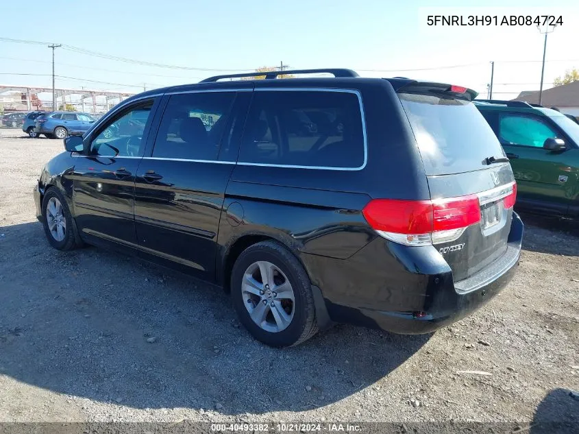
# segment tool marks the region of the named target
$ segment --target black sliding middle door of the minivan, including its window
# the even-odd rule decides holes
[[[214,279],[221,208],[250,96],[168,97],[153,149],[136,176],[136,233],[145,258]]]

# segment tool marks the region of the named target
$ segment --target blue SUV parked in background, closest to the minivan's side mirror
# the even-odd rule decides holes
[[[65,138],[69,135],[82,135],[96,119],[88,113],[48,112],[34,121],[34,132],[48,138]]]

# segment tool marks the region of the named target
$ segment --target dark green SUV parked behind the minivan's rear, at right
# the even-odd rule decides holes
[[[579,217],[579,125],[523,101],[474,101],[499,138],[517,180],[517,208]]]

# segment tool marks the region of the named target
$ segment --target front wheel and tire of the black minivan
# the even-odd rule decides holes
[[[72,250],[79,244],[76,224],[69,206],[56,188],[48,189],[42,199],[42,224],[53,248]]]

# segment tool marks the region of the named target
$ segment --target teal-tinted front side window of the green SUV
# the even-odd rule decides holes
[[[543,147],[545,139],[556,136],[541,119],[514,113],[501,116],[500,141],[504,145]]]

